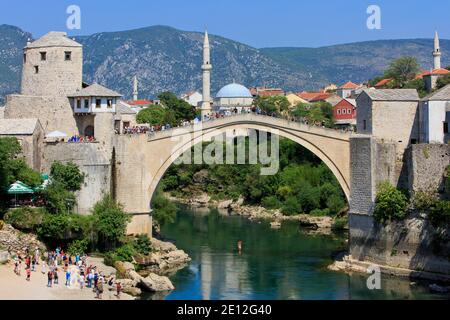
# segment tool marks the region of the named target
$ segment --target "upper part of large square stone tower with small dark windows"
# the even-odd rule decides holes
[[[82,45],[65,32],[49,32],[27,43],[23,52],[23,95],[66,97],[80,90],[82,81]]]

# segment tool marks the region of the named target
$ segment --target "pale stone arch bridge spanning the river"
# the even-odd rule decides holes
[[[350,196],[350,133],[256,114],[241,114],[149,135],[120,135],[114,143],[113,194],[133,215],[129,233],[151,230],[152,196],[171,164],[185,151],[212,137],[236,130],[277,132],[318,156]],[[150,224],[150,225],[149,225]]]

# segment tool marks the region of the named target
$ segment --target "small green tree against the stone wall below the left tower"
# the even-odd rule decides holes
[[[73,162],[62,164],[56,161],[50,169],[52,180],[58,181],[68,191],[79,191],[84,183],[85,175]]]

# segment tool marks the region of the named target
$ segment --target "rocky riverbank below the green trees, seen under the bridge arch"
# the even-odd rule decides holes
[[[189,198],[173,197],[170,194],[166,194],[166,196],[174,202],[185,204],[194,208],[217,208],[219,210],[226,210],[231,214],[246,217],[252,221],[270,221],[271,227],[274,229],[280,228],[283,221],[297,221],[299,223],[299,227],[308,233],[330,234],[334,225],[334,219],[332,217],[315,217],[307,214],[285,216],[280,210],[269,210],[261,206],[245,205],[242,197],[236,201],[216,201],[212,200],[211,197],[205,193]]]

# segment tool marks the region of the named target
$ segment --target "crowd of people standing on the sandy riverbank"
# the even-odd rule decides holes
[[[42,254],[39,248],[33,252],[25,248],[22,254],[14,257],[14,273],[20,277],[24,269],[26,281],[32,281],[32,274],[39,272],[38,266],[40,272],[46,275],[48,288],[64,285],[69,289],[92,289],[95,298],[102,299],[105,287],[108,287],[115,290],[116,297],[120,298],[121,283],[113,275],[106,277],[97,266],[88,264],[86,255],[71,256],[58,247],[46,254]],[[61,283],[60,276],[63,277]]]

